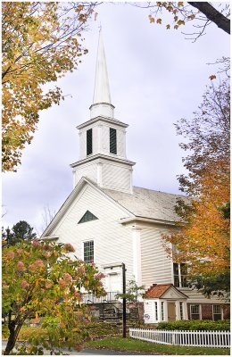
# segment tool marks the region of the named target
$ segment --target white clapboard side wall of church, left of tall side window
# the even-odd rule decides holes
[[[146,287],[171,283],[171,260],[163,247],[162,233],[167,233],[162,226],[141,229],[142,284]]]

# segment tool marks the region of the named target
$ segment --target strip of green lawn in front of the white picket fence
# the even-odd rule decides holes
[[[150,342],[140,341],[133,338],[105,338],[103,340],[91,341],[85,344],[85,348],[109,349],[113,351],[141,352],[147,354],[206,354],[220,355],[229,354],[229,348],[208,348],[208,347],[181,347],[172,345],[159,345]]]

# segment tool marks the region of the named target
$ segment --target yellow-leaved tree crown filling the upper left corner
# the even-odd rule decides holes
[[[39,112],[63,99],[48,89],[77,68],[81,36],[94,3],[2,3],[3,170],[16,170],[37,129]]]

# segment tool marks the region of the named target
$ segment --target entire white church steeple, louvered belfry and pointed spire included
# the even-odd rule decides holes
[[[132,167],[126,155],[128,124],[114,119],[109,79],[100,29],[90,120],[79,124],[79,161],[72,163],[74,187],[82,177],[99,187],[131,193]]]

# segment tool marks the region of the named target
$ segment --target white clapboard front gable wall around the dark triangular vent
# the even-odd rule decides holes
[[[93,213],[98,220],[78,224],[87,211]],[[95,264],[101,267],[103,264],[124,262],[127,267],[127,278],[131,279],[133,266],[131,231],[119,223],[119,220],[127,214],[94,187],[87,185],[64,214],[53,234],[60,237],[60,242],[73,245],[76,255],[81,259],[83,259],[83,242],[94,240]]]

